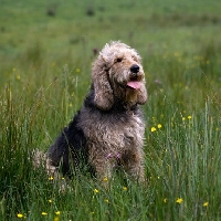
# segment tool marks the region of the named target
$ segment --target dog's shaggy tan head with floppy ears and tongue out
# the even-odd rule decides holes
[[[139,54],[120,42],[110,42],[93,64],[94,104],[108,110],[115,102],[130,108],[145,104],[147,91]]]

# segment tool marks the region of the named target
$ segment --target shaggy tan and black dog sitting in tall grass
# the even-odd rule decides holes
[[[106,44],[92,69],[92,86],[83,107],[48,150],[52,170],[71,175],[84,160],[98,179],[123,166],[144,181],[145,123],[139,105],[147,101],[139,54],[119,41]]]

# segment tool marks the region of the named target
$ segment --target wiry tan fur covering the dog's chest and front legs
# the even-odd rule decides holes
[[[133,113],[128,112],[128,116],[127,119],[123,117],[109,125],[109,120],[105,118],[102,122],[93,120],[96,118],[93,113],[82,115],[82,118],[92,119],[86,124],[81,123],[81,126],[85,126],[85,136],[94,138],[87,141],[88,160],[101,178],[109,178],[113,169],[120,162],[134,178],[144,179],[145,124]]]

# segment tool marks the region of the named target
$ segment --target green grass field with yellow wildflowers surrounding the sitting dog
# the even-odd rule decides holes
[[[221,220],[221,2],[12,1],[0,8],[0,220]],[[146,177],[110,188],[34,170],[81,107],[94,49],[122,40],[146,72]]]

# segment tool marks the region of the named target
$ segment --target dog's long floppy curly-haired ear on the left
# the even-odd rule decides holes
[[[97,108],[108,110],[114,104],[113,90],[108,81],[108,69],[99,54],[92,69],[94,84],[94,104]]]

